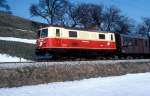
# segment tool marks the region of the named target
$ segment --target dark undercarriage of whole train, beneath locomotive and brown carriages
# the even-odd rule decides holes
[[[89,49],[36,49],[36,60],[112,60],[112,59],[143,59],[149,54],[125,54],[116,50]]]

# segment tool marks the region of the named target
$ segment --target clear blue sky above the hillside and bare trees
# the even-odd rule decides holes
[[[7,0],[14,15],[35,21],[44,22],[41,18],[31,17],[29,14],[29,6],[38,3],[39,0]],[[74,3],[95,3],[104,6],[115,5],[121,9],[122,13],[136,21],[140,21],[142,17],[150,17],[150,0],[71,0]]]

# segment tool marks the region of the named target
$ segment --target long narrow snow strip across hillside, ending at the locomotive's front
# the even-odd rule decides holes
[[[30,44],[36,43],[36,40],[34,39],[22,39],[22,38],[15,38],[15,37],[0,37],[0,40],[23,42],[23,43],[30,43]]]

